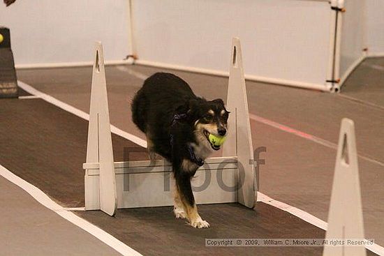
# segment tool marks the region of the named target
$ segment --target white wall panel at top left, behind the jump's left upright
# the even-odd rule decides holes
[[[9,27],[16,64],[93,61],[95,40],[105,59],[128,54],[126,0],[18,0],[0,2],[0,24]]]

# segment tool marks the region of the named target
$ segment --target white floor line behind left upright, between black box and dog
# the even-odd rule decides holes
[[[67,103],[62,102],[61,100],[58,100],[57,98],[54,98],[52,96],[49,96],[41,91],[38,91],[34,89],[34,87],[30,86],[29,84],[26,84],[21,81],[17,81],[19,84],[20,88],[23,89],[24,91],[27,91],[28,93],[31,93],[33,96],[37,96],[38,98],[41,98],[48,103],[51,103],[52,105],[55,105],[57,107],[60,107],[62,110],[65,110],[66,112],[70,112],[72,114],[75,114],[76,116],[81,117],[82,119],[89,120],[89,114],[82,111],[78,110],[75,107],[72,107],[71,105],[68,105]],[[142,147],[147,147],[147,142],[145,140],[142,140],[140,137],[137,137],[135,135],[132,135],[131,133],[126,133],[124,130],[121,130],[117,128],[116,126],[111,125],[111,131],[112,133],[115,133],[121,137],[126,138],[127,140],[131,140],[131,142],[134,142],[135,144],[138,144]]]

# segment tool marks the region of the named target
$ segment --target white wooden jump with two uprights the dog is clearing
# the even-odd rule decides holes
[[[96,43],[95,56],[87,163],[83,165],[85,209],[101,209],[112,216],[117,208],[172,205],[170,163],[164,160],[113,162],[101,43]],[[239,202],[253,208],[257,182],[239,38],[232,40],[226,107],[232,113],[228,119],[229,135],[223,144],[223,157],[208,158],[196,172],[193,186],[202,188],[203,183],[207,186],[194,191],[195,200],[198,204]]]

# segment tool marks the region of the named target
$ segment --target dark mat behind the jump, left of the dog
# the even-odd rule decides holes
[[[0,100],[0,164],[63,206],[84,206],[84,163],[88,121],[44,100]],[[112,135],[116,161],[124,147],[138,147]],[[135,159],[147,159],[136,153]]]

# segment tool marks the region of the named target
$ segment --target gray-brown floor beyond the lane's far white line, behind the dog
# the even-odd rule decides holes
[[[250,112],[337,144],[340,121],[355,121],[357,151],[384,163],[383,59],[367,59],[347,80],[340,94],[273,84],[246,82]],[[374,66],[373,66],[374,65]],[[131,122],[130,102],[142,80],[131,71],[151,75],[158,68],[107,68],[111,122],[145,138]],[[170,71],[206,98],[226,98],[228,78]],[[91,68],[18,70],[19,80],[85,112],[89,111]],[[344,96],[348,96],[346,98]],[[336,150],[251,121],[253,147],[266,146],[260,191],[327,220]],[[359,158],[366,236],[384,246],[384,167]]]

